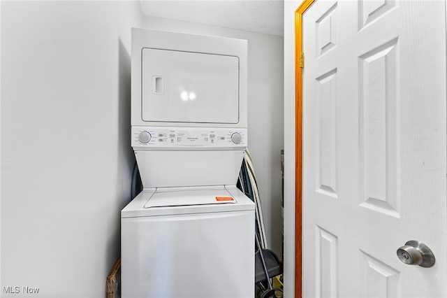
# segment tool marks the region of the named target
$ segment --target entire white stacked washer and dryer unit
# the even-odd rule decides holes
[[[122,297],[254,297],[247,41],[133,28],[131,57],[143,190],[122,210]]]

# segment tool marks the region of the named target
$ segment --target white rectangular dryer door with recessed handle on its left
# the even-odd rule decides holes
[[[142,49],[142,120],[239,122],[239,58]]]

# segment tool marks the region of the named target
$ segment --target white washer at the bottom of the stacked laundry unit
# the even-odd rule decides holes
[[[122,211],[122,297],[254,297],[254,220],[235,187],[144,190]]]

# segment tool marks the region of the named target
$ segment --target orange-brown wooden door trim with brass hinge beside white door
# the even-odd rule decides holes
[[[314,1],[295,10],[295,298],[302,297],[302,14]]]

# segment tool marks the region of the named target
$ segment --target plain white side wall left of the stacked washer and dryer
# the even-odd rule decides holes
[[[133,1],[1,1],[2,297],[105,297],[130,199],[140,24]]]

